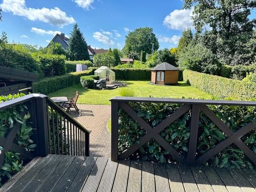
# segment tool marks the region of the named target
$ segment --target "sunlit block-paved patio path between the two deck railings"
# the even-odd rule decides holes
[[[77,105],[82,110],[82,116],[78,116],[73,109],[69,113],[81,123],[90,133],[90,156],[110,158],[111,138],[107,128],[110,119],[110,105]]]

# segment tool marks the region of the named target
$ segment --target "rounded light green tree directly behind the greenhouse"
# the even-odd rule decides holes
[[[93,57],[93,64],[95,67],[107,66],[113,67],[115,59],[112,54],[98,53]]]

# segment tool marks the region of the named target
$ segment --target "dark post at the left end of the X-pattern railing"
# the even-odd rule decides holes
[[[111,101],[111,161],[118,160],[118,102]]]

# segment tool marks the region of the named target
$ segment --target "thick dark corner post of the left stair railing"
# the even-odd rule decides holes
[[[47,96],[36,98],[36,114],[37,114],[37,135],[38,148],[40,156],[49,154],[49,133],[48,133],[48,116],[47,116]]]

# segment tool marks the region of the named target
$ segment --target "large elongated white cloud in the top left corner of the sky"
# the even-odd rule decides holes
[[[23,16],[31,21],[42,21],[60,27],[75,23],[72,16],[67,16],[66,12],[62,12],[58,7],[54,9],[29,8],[25,0],[3,0],[0,7],[4,12],[12,12],[14,15]]]

